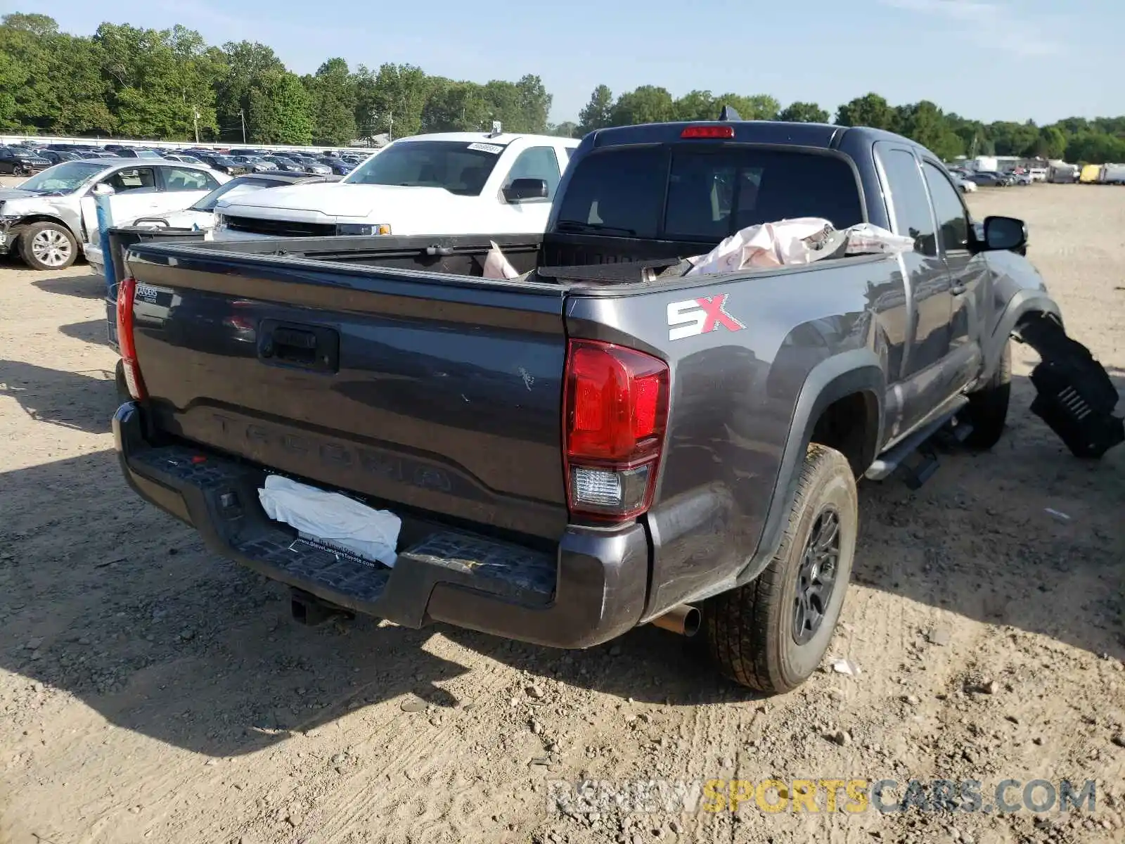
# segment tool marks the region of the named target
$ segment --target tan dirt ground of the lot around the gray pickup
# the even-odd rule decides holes
[[[1125,190],[971,204],[1029,221],[1070,331],[1125,388]],[[101,296],[84,267],[0,262],[3,844],[1125,841],[1125,448],[1094,464],[1063,449],[1027,410],[1028,349],[992,452],[944,456],[917,493],[861,488],[830,652],[861,673],[762,700],[652,628],[566,653],[442,627],[294,625],[280,587],[205,553],[122,481]],[[549,781],[582,778],[948,778],[981,781],[986,802],[1006,779],[1092,779],[1097,802],[549,805]]]

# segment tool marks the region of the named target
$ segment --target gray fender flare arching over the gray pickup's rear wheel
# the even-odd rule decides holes
[[[874,414],[875,422],[872,430],[866,432],[863,461],[870,465],[875,459],[883,441],[886,375],[874,351],[867,348],[853,349],[820,361],[806,377],[793,408],[793,421],[782,451],[777,477],[774,479],[770,510],[762,527],[757,550],[729,587],[740,586],[757,577],[777,554],[789,511],[796,495],[796,481],[804,452],[809,448],[817,421],[834,402],[856,393],[864,395],[870,403],[868,413]]]

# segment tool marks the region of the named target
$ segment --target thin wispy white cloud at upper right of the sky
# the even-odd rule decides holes
[[[1040,17],[1035,23],[1028,23],[1020,19],[1018,7],[1008,3],[981,0],[878,0],[878,2],[894,9],[945,18],[960,25],[951,30],[951,37],[964,36],[968,42],[976,46],[1020,59],[1059,55],[1065,52],[1062,43],[1047,37],[1048,32],[1059,32],[1053,20]]]

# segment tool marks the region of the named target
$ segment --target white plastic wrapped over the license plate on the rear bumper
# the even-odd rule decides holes
[[[270,519],[291,524],[302,535],[385,566],[395,565],[395,545],[403,522],[394,513],[280,475],[266,477],[258,499]]]

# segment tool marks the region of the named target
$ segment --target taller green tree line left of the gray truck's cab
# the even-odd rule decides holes
[[[354,70],[330,59],[297,75],[251,42],[208,45],[182,26],[102,24],[90,36],[46,15],[0,18],[0,131],[82,136],[323,144],[393,133],[548,131],[536,75],[486,84],[410,64]]]

